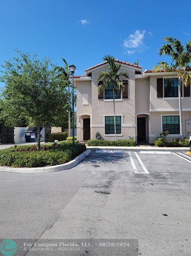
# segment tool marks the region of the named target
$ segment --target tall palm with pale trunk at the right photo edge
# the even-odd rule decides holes
[[[163,70],[165,72],[175,72],[179,77],[178,98],[179,98],[179,115],[180,115],[180,139],[183,140],[182,131],[182,102],[181,102],[181,81],[183,86],[187,87],[191,83],[191,40],[185,44],[181,44],[180,40],[173,37],[163,38],[167,44],[161,45],[159,49],[160,55],[168,55],[172,58],[171,64],[160,61],[154,66],[154,72]]]

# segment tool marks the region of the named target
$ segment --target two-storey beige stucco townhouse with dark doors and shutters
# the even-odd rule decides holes
[[[123,93],[115,93],[117,139],[135,139],[137,143],[153,143],[161,131],[168,130],[168,139],[180,137],[178,78],[175,73],[152,70],[125,61],[129,81]],[[114,140],[112,90],[97,92],[97,76],[108,68],[103,62],[86,69],[85,76],[74,76],[77,87],[77,140],[95,139],[99,132],[104,140]],[[183,134],[191,133],[191,87],[182,87]]]

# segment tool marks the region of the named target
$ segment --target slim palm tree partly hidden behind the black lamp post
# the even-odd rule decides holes
[[[69,81],[70,78],[70,69],[68,67],[68,64],[66,62],[66,60],[64,58],[62,58],[62,60],[65,63],[65,67],[55,67],[54,69],[57,70],[59,72],[58,76],[61,76],[64,80],[64,83],[66,84],[66,86],[68,87],[68,137],[71,136],[71,107],[70,107],[70,102],[71,102],[71,92],[70,92],[70,87],[71,87],[71,82]]]

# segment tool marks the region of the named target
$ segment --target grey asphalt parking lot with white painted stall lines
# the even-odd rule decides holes
[[[188,256],[191,157],[182,154],[93,151],[68,171],[1,172],[0,237],[138,239],[137,255]]]

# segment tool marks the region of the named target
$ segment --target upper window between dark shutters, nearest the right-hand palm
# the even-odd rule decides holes
[[[164,96],[165,97],[178,97],[178,78],[165,78],[164,79]]]

